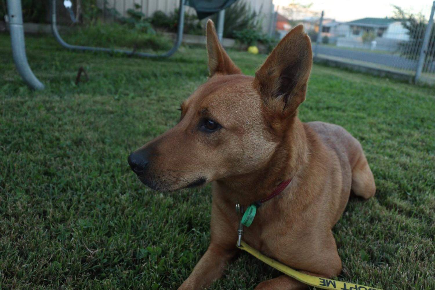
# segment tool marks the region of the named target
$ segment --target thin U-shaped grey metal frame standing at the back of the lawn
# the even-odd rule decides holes
[[[8,0],[10,1],[10,0]],[[56,22],[56,0],[51,0],[51,31],[53,32],[54,37],[56,38],[57,42],[60,43],[63,47],[66,47],[68,49],[72,50],[88,50],[88,51],[103,51],[103,52],[109,52],[109,53],[124,53],[128,55],[134,55],[138,57],[170,57],[172,54],[174,54],[178,47],[181,45],[181,40],[183,39],[183,29],[184,29],[184,3],[186,0],[180,0],[180,9],[178,10],[178,31],[177,31],[177,38],[174,42],[174,46],[171,48],[171,50],[168,50],[165,53],[161,54],[152,54],[152,53],[143,53],[143,52],[137,52],[137,51],[129,51],[129,50],[120,50],[120,49],[111,49],[111,48],[104,48],[104,47],[84,47],[79,45],[71,45],[67,42],[65,42],[62,37],[60,37],[59,31],[57,30],[57,22]]]

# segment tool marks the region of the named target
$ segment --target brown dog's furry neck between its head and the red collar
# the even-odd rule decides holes
[[[292,179],[308,161],[307,136],[297,116],[291,121],[271,160],[259,170],[218,180],[216,186],[231,203],[249,205],[268,197],[282,181]]]

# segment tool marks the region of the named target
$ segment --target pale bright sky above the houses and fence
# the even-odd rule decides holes
[[[337,21],[350,21],[364,17],[392,17],[394,8],[391,4],[402,7],[413,13],[422,12],[429,17],[432,0],[273,0],[275,7],[286,6],[289,3],[310,4],[310,10],[325,10],[325,17]]]

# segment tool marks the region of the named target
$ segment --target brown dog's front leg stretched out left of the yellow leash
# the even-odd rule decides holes
[[[178,289],[203,289],[210,286],[214,280],[221,277],[228,260],[234,256],[236,251],[236,249],[225,249],[211,242],[190,276]]]

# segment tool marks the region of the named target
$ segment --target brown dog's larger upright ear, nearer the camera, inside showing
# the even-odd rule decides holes
[[[305,100],[312,63],[310,38],[304,27],[294,27],[255,73],[254,87],[265,105],[288,116]]]

